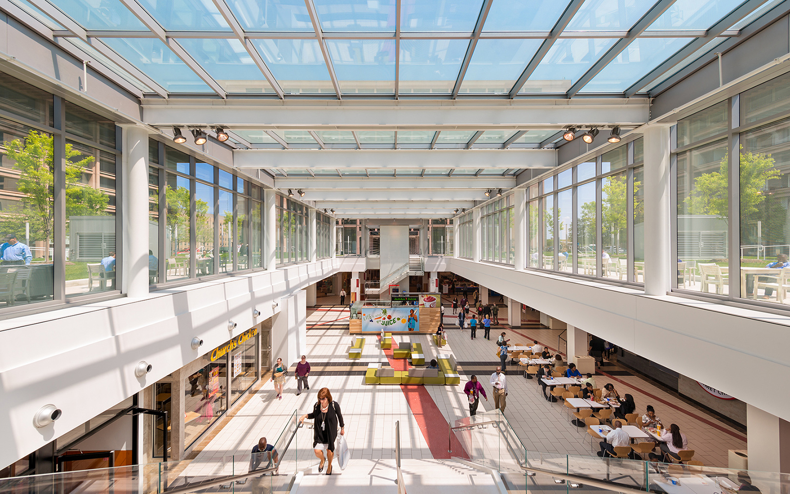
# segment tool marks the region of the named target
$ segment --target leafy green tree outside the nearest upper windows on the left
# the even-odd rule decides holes
[[[49,262],[49,245],[55,228],[55,146],[52,136],[31,130],[24,139],[6,141],[6,153],[20,171],[17,190],[24,194],[21,208],[12,211],[21,221],[29,221],[32,232],[45,239],[44,262]],[[82,168],[95,158],[84,156],[66,144],[66,215],[90,216],[107,208],[107,194],[79,183]]]

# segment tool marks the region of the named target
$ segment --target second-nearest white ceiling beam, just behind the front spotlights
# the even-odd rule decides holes
[[[237,168],[546,168],[554,149],[237,149]]]

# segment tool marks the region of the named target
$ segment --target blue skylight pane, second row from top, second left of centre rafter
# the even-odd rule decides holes
[[[285,92],[335,92],[318,40],[252,40]]]

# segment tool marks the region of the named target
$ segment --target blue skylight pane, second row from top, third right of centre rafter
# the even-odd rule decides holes
[[[611,38],[557,40],[519,92],[566,92],[615,41]]]

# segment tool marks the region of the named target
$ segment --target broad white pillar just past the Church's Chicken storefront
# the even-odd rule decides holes
[[[290,367],[307,351],[307,292],[299,290],[280,299],[280,312],[272,319],[272,360]]]

